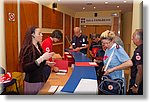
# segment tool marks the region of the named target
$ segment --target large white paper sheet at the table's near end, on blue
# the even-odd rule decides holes
[[[94,79],[81,79],[74,94],[98,94],[98,83]]]

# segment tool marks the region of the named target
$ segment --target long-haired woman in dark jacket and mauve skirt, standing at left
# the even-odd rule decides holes
[[[43,53],[40,45],[42,36],[40,28],[29,28],[20,51],[20,66],[23,72],[25,72],[24,94],[27,95],[37,94],[44,85],[46,77],[48,77],[45,76],[44,71],[50,68],[46,65],[46,60],[54,54],[54,52]]]

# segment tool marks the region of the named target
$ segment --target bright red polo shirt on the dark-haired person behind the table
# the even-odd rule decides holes
[[[42,48],[44,52],[52,52],[52,46],[53,46],[53,41],[50,37],[46,38],[42,42]],[[50,58],[49,61],[52,61],[52,58]]]

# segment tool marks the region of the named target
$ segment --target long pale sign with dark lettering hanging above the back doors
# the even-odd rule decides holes
[[[110,24],[112,23],[111,17],[98,17],[98,18],[80,18],[80,24]]]

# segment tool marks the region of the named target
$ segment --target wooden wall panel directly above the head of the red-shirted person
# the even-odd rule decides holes
[[[63,13],[46,6],[42,6],[42,27],[63,29]]]

